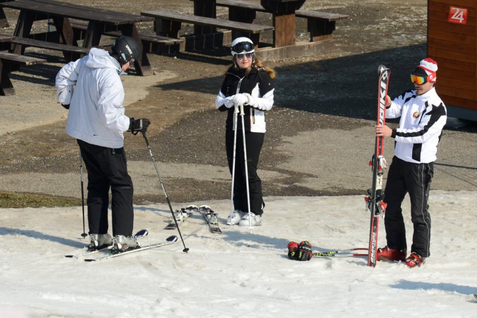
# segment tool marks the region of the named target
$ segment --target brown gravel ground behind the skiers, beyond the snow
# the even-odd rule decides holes
[[[109,0],[85,5],[131,12],[130,6],[117,7]],[[377,68],[391,68],[391,96],[410,87],[409,72],[426,56],[426,6],[424,0],[305,3],[303,9],[351,18],[336,24],[335,52],[268,63],[278,78],[259,167],[265,196],[366,193],[371,186]],[[156,7],[157,2],[139,0],[133,13]],[[192,13],[186,0],[162,1],[161,8]],[[6,13],[13,26],[2,33],[9,34],[16,13]],[[265,14],[258,20],[270,23]],[[140,27],[152,32],[152,24]],[[297,19],[299,40],[307,38],[304,30],[305,21]],[[55,99],[54,77],[64,61],[51,55],[55,52],[31,54],[49,63],[14,72],[17,95],[0,97],[0,190],[79,198],[78,148],[64,132],[67,113]],[[213,55],[151,54],[149,59],[155,75],[123,78],[126,112],[151,119],[148,135],[170,199],[229,198],[225,116],[213,106],[229,56],[217,50]],[[444,131],[433,189],[476,190],[476,131],[474,123]],[[125,147],[135,202],[164,202],[144,139],[126,134]],[[389,162],[392,155],[393,141],[387,140]]]

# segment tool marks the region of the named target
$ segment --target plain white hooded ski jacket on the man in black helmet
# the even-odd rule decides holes
[[[107,51],[92,48],[56,75],[58,101],[69,104],[66,133],[108,148],[124,146],[130,118],[124,114],[120,64]]]

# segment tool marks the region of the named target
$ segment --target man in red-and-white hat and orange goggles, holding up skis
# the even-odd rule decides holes
[[[447,111],[434,88],[437,63],[426,58],[411,73],[414,89],[393,101],[386,96],[386,118],[401,117],[399,127],[376,125],[376,135],[395,139],[395,156],[385,188],[387,246],[378,249],[378,260],[404,261],[415,267],[430,255],[431,218],[429,187],[434,175],[437,144],[447,120]],[[414,225],[411,254],[407,255],[406,229],[401,203],[406,193],[411,200]]]

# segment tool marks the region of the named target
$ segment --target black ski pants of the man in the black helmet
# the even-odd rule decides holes
[[[77,139],[88,171],[89,234],[108,231],[107,208],[111,189],[112,234],[133,234],[133,181],[128,175],[126,153],[122,148],[107,148]]]

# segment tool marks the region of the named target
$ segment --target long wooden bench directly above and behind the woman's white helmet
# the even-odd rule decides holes
[[[231,30],[233,38],[245,36],[250,38],[257,46],[260,42],[260,33],[274,30],[271,26],[199,17],[165,10],[145,11],[141,12],[141,15],[155,18],[154,29],[156,34],[171,38],[179,38],[181,24],[190,23]]]

